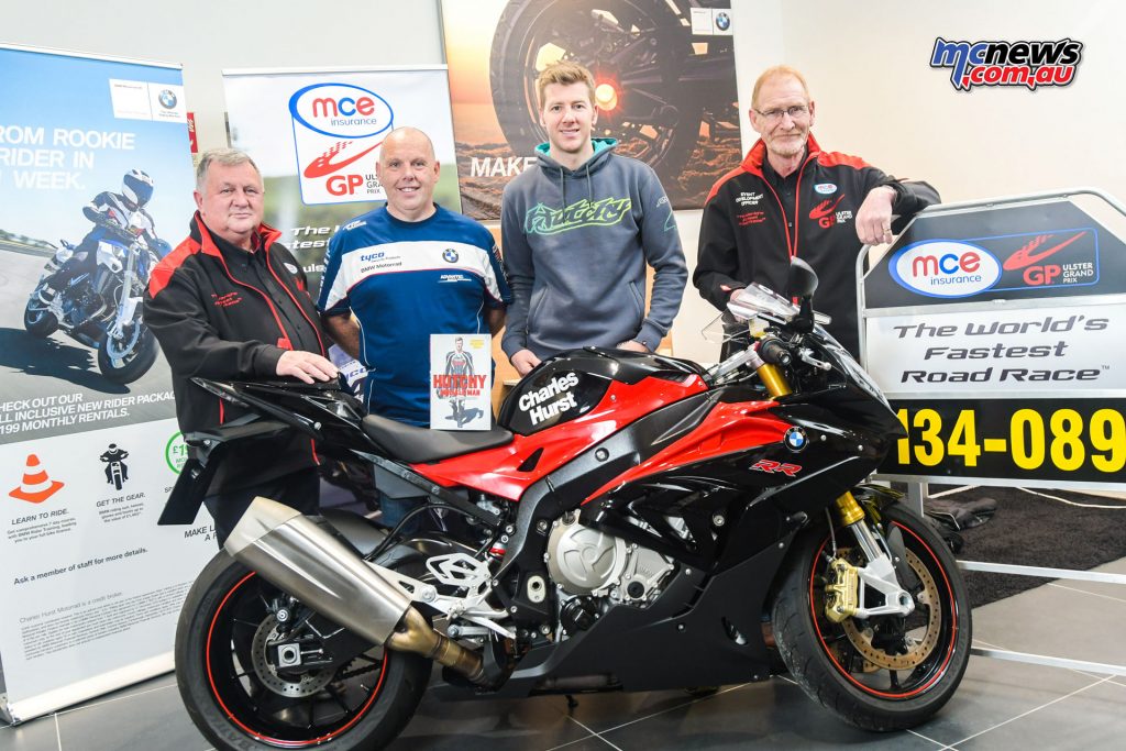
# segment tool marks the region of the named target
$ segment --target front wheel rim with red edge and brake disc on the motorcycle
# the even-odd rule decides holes
[[[869,618],[868,623],[837,624],[825,617],[828,537],[815,554],[808,602],[816,637],[833,669],[864,694],[902,701],[939,685],[954,658],[960,614],[946,567],[933,549],[909,527],[892,524],[902,531],[908,563],[920,578],[911,592],[914,613],[906,618]],[[838,555],[860,563],[855,549],[839,548]],[[895,643],[895,649],[884,649],[887,643]]]

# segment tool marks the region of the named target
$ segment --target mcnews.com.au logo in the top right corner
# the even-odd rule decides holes
[[[1064,87],[1075,80],[1083,57],[1083,43],[1056,42],[947,42],[935,39],[931,68],[949,68],[957,91],[974,87]]]

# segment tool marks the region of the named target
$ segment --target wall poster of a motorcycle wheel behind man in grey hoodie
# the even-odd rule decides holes
[[[674,208],[699,208],[742,158],[731,0],[441,3],[465,213],[500,218],[504,185],[547,141],[536,75],[572,60],[595,77],[595,137],[642,160]]]

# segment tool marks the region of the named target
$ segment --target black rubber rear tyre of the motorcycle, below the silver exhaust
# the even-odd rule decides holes
[[[408,652],[388,652],[386,673],[366,714],[341,735],[306,744],[277,745],[256,741],[234,724],[215,700],[205,665],[211,624],[226,597],[250,570],[225,552],[220,552],[196,579],[184,601],[176,627],[176,682],[188,716],[216,751],[265,751],[267,749],[323,749],[360,751],[382,749],[406,726],[430,678],[432,662]]]

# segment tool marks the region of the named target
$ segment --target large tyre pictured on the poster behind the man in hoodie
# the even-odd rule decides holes
[[[595,5],[610,11],[615,8],[631,10],[642,18],[652,20],[658,28],[680,29],[679,18],[663,2],[602,0]],[[584,7],[566,0],[511,0],[504,6],[497,21],[489,57],[490,91],[501,132],[512,153],[517,155],[534,154],[536,146],[547,141],[547,133],[539,125],[538,102],[535,101],[535,95],[527,89],[530,86],[529,81],[536,77],[534,70],[525,66],[529,47],[537,39],[549,41],[544,29],[554,27],[553,18],[558,14],[583,12]],[[690,37],[686,37],[685,44],[688,45],[690,42]],[[672,45],[668,45],[664,54],[674,54]],[[577,62],[597,73],[598,60],[580,57]],[[690,91],[679,90],[676,82],[669,83],[668,89],[678,96],[677,108],[682,114],[680,122],[670,128],[669,145],[643,161],[662,179],[676,179],[683,171],[685,164],[699,142],[704,105],[695,101]],[[525,102],[522,106],[509,100],[511,93],[516,91],[522,92],[519,98]],[[601,137],[598,128],[599,126],[595,125],[595,137]],[[620,134],[616,137],[619,142],[625,140]]]

